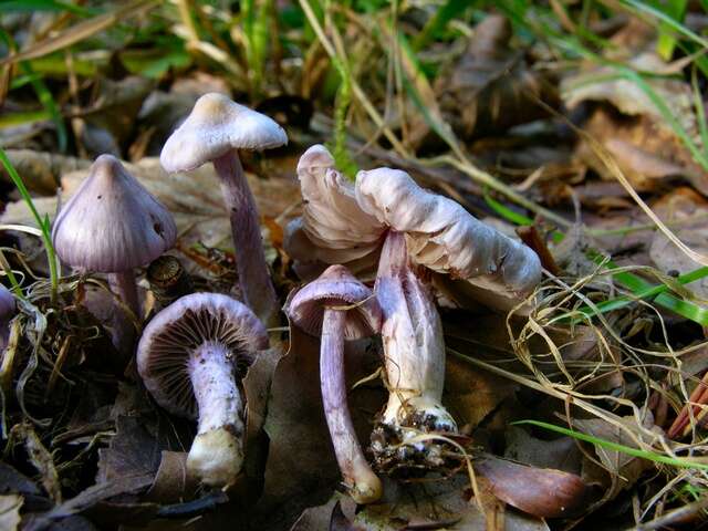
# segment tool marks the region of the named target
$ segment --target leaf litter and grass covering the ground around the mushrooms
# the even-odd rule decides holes
[[[667,25],[639,2],[622,12],[317,3],[317,15],[308,0],[244,4],[58,4],[65,11],[2,21],[0,144],[41,218],[53,219],[92,158],[113,153],[175,216],[170,252],[198,290],[238,296],[242,257],[214,170],[168,176],[156,158],[196,98],[220,92],[291,137],[244,157],[281,302],[300,282],[283,249],[301,212],[294,167],[321,142],[350,147],[347,160],[346,147],[333,150],[343,168],[400,166],[507,233],[532,225],[535,250],[556,269],[523,304],[494,311],[437,279],[442,400],[460,426],[444,467],[383,475],[384,499],[356,507],[324,421],[319,342],[282,323],[242,384],[244,471],[210,489],[188,473],[194,426],[153,404],[116,340],[139,323],[112,310],[101,275],[65,271],[52,300],[42,227],[2,174],[0,266],[21,298],[0,364],[0,527],[656,529],[701,519],[705,470],[681,464],[706,451],[705,13],[691,6],[665,14]],[[137,32],[126,32],[123,19],[136,14]],[[656,43],[671,39],[666,59]],[[148,280],[149,319],[159,305]],[[653,288],[662,292],[643,294]],[[346,346],[364,447],[386,398],[382,356],[377,340]],[[527,419],[590,439],[512,425]],[[582,499],[576,511],[554,488],[575,485],[569,478],[582,478],[582,497],[569,494]]]

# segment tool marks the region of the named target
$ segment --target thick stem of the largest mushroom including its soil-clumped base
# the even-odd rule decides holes
[[[372,433],[379,468],[438,467],[445,444],[425,434],[457,433],[441,404],[445,343],[430,288],[410,264],[405,236],[389,231],[375,287],[384,312],[382,339],[388,404]]]

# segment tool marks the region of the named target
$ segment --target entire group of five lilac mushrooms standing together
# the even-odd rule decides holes
[[[267,327],[280,322],[238,150],[287,142],[271,118],[207,94],[160,155],[169,173],[214,164],[237,253],[241,301],[219,293],[177,299],[147,323],[136,354],[156,403],[198,420],[187,467],[210,486],[233,483],[241,470],[244,404],[238,375],[268,347]],[[382,496],[382,483],[350,416],[344,342],[376,334],[383,341],[391,395],[372,435],[374,455],[409,459],[413,452],[435,465],[439,456],[420,434],[457,431],[441,403],[445,344],[436,294],[452,281],[518,300],[540,281],[541,266],[531,249],[419,188],[403,171],[360,171],[352,183],[327,149],[315,145],[301,157],[298,176],[303,214],[287,229],[285,250],[308,283],[290,294],[284,312],[292,325],[321,337],[322,399],[336,459],[351,496],[368,503]],[[64,264],[107,273],[122,305],[139,320],[136,268],[169,250],[177,229],[116,158],[102,155],[62,208],[52,237]],[[373,289],[358,280],[374,272]]]

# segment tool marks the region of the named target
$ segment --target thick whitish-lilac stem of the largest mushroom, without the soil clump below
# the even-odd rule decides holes
[[[456,431],[442,407],[445,343],[440,316],[430,293],[410,267],[405,236],[388,232],[376,277],[384,313],[382,339],[391,394],[383,423],[419,429]]]

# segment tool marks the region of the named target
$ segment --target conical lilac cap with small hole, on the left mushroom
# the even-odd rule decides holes
[[[169,211],[112,155],[96,158],[52,230],[62,262],[103,273],[144,266],[176,238]]]

